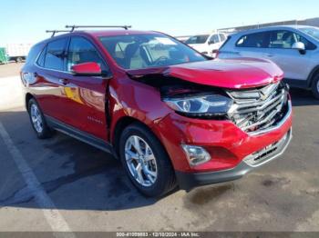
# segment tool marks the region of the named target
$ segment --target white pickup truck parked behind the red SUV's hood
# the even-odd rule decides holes
[[[194,48],[203,55],[215,57],[215,51],[225,42],[227,36],[223,33],[213,32],[211,35],[193,35],[185,41],[187,45]]]

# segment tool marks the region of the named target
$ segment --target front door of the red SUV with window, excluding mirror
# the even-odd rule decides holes
[[[74,64],[96,62],[105,76],[79,76],[71,72]],[[82,132],[107,140],[106,92],[110,71],[98,48],[83,36],[72,36],[67,52],[64,86],[64,114],[69,124]]]

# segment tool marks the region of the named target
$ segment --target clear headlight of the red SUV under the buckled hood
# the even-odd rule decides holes
[[[165,98],[164,102],[176,112],[193,116],[225,115],[232,106],[232,99],[220,94]]]

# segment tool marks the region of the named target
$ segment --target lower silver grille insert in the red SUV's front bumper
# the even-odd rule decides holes
[[[292,131],[290,130],[278,142],[270,144],[264,147],[262,150],[248,155],[247,157],[243,159],[243,161],[252,167],[265,164],[266,162],[271,161],[277,156],[283,154],[291,138],[292,138]]]

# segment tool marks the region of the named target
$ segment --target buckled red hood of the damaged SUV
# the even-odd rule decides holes
[[[162,74],[195,84],[238,89],[263,86],[283,79],[283,71],[276,64],[254,58],[215,59],[129,70],[127,73],[136,78],[147,74]]]

